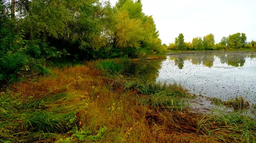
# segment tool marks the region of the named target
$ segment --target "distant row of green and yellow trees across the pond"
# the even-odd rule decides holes
[[[169,50],[227,50],[227,49],[252,49],[256,48],[256,41],[246,42],[244,33],[236,33],[228,37],[222,37],[221,42],[215,44],[213,34],[192,39],[192,42],[184,42],[183,34],[175,38],[175,43],[165,45]]]

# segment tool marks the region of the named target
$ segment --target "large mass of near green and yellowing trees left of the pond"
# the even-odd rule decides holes
[[[46,61],[137,58],[163,50],[140,0],[0,0],[0,81]]]

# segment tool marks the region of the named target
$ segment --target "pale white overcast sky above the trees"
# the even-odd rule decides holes
[[[110,0],[114,6],[117,0]],[[212,33],[223,36],[245,33],[256,40],[256,0],[141,0],[143,13],[152,15],[162,43],[169,45],[180,33],[185,42]]]

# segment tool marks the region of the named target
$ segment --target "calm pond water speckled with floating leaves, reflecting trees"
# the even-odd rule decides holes
[[[197,95],[222,100],[241,95],[256,103],[256,52],[170,53],[158,63],[156,81],[177,82]]]

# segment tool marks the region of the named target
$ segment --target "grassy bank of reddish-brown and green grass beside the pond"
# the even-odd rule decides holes
[[[190,112],[183,87],[125,76],[123,61],[52,68],[0,93],[0,142],[256,142],[249,115]]]

